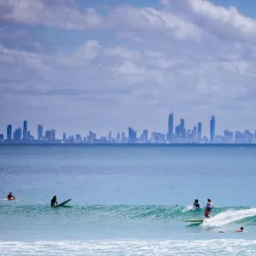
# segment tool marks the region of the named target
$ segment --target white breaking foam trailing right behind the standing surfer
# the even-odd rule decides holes
[[[256,208],[247,210],[229,210],[226,212],[221,212],[212,218],[204,220],[203,226],[221,227],[226,224],[231,224],[233,222],[239,221],[244,218],[256,216]]]

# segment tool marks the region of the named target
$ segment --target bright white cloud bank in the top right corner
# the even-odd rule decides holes
[[[255,42],[256,20],[241,15],[236,7],[224,8],[208,0],[165,0],[169,11],[177,11],[177,15],[190,20],[195,26],[219,38]]]

